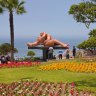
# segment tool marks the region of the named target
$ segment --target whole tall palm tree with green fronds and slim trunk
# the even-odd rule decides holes
[[[0,13],[4,11],[9,12],[10,23],[10,41],[11,41],[11,60],[14,60],[14,18],[13,13],[23,14],[25,13],[24,1],[19,0],[0,0]]]

